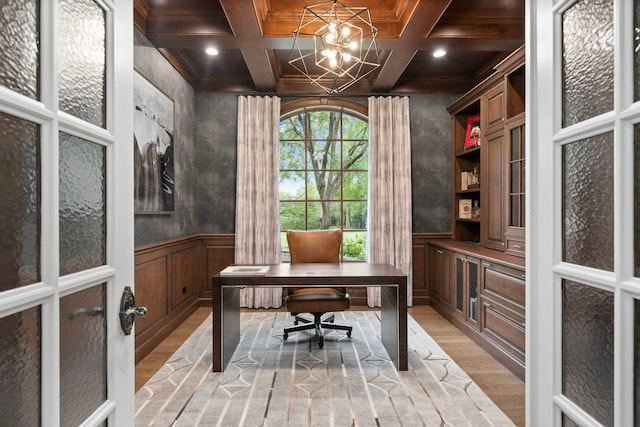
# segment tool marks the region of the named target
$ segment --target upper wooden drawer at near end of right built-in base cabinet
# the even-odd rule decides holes
[[[518,306],[524,313],[524,272],[490,263],[483,263],[483,270],[483,291],[506,299],[508,302]]]

